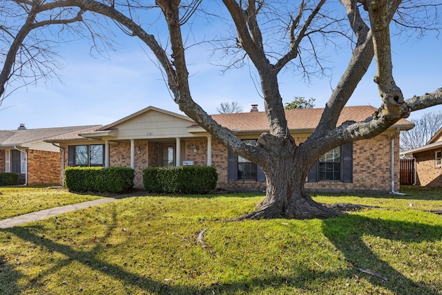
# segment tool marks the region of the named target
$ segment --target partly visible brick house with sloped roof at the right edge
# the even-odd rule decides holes
[[[423,187],[442,187],[442,129],[424,146],[401,153],[414,158],[416,184]]]

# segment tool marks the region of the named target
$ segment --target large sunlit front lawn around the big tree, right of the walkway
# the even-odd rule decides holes
[[[250,193],[73,211],[0,231],[0,294],[441,294],[442,216],[428,210],[442,193],[405,190],[315,196],[380,207],[326,220],[226,222],[262,200]]]

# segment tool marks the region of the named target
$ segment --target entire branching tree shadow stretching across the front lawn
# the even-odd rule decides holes
[[[102,272],[106,276],[112,276],[116,280],[123,282],[124,285],[131,285],[151,294],[231,294],[238,291],[259,294],[260,291],[264,292],[264,290],[267,290],[268,292],[269,288],[271,288],[272,293],[278,293],[278,287],[285,286],[288,286],[289,289],[291,287],[304,290],[311,289],[311,293],[314,294],[329,294],[330,290],[327,289],[328,279],[352,278],[355,275],[365,276],[365,274],[362,274],[352,267],[340,269],[338,272],[321,272],[307,268],[302,269],[302,266],[300,265],[287,265],[289,270],[293,269],[289,273],[296,274],[296,276],[282,277],[278,276],[278,273],[276,273],[260,278],[244,278],[243,280],[238,280],[238,282],[231,284],[214,283],[210,287],[200,287],[197,284],[173,285],[160,280],[152,280],[150,278],[142,277],[136,272],[129,272],[126,268],[120,265],[108,263],[97,258],[96,253],[104,250],[106,247],[106,240],[111,237],[115,227],[117,227],[117,212],[114,210],[113,222],[108,222],[108,229],[104,237],[100,238],[101,242],[97,242],[97,245],[89,251],[79,251],[73,249],[73,247],[70,247],[69,245],[61,245],[45,238],[44,236],[34,234],[36,231],[40,231],[38,225],[1,229],[1,231],[9,232],[10,234],[26,240],[32,243],[35,247],[44,247],[45,249],[48,249],[48,251],[56,251],[67,257],[67,259],[59,260],[56,265],[39,274],[39,278],[42,278],[42,280],[44,280],[45,276],[57,274],[60,269],[66,267],[66,265],[73,261],[76,261],[77,263],[92,268],[97,272]],[[292,230],[296,231],[297,229],[296,227],[293,227]],[[372,219],[356,214],[343,214],[338,218],[323,220],[323,233],[337,247],[337,249],[343,253],[350,265],[361,269],[372,269],[373,271],[389,278],[388,281],[381,280],[380,278],[370,278],[370,283],[372,283],[372,285],[384,287],[389,289],[392,293],[399,295],[439,294],[434,287],[425,285],[424,283],[414,282],[413,280],[410,280],[410,278],[397,272],[396,269],[389,265],[389,263],[383,261],[379,256],[374,254],[372,249],[367,247],[362,237],[370,235],[403,242],[432,242],[441,239],[442,227],[395,220]],[[247,260],[247,257],[244,257],[244,259]],[[0,273],[3,276],[12,278],[8,289],[19,289],[17,282],[21,279],[21,274],[17,274],[13,267],[1,267]],[[320,283],[312,284],[313,281]],[[23,291],[29,291],[33,287],[37,287],[37,285],[38,282],[32,280],[28,282],[28,285],[20,286],[20,289]],[[318,286],[323,289],[318,290]],[[108,287],[112,290],[112,286]],[[78,289],[71,289],[70,291],[66,289],[66,293],[75,293],[77,291]],[[94,292],[98,294],[99,290],[87,290],[88,294],[95,294]],[[106,294],[113,294],[111,292]],[[12,292],[10,294],[17,293]]]

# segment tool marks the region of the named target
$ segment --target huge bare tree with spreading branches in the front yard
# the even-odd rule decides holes
[[[439,30],[436,12],[442,4],[434,1],[405,1],[401,4],[401,0],[340,0],[343,10],[339,11],[335,7],[327,8],[325,0],[301,1],[298,7],[294,6],[293,1],[222,0],[236,32],[235,41],[226,47],[227,52],[233,53],[231,64],[249,62],[259,76],[269,132],[260,135],[254,146],[242,142],[231,131],[217,124],[192,99],[186,62],[189,44],[185,44],[184,40],[188,39],[183,37],[183,33],[189,30],[186,27],[189,19],[198,17],[195,12],[200,9],[200,0],[157,0],[152,7],[143,6],[143,1],[131,0],[3,2],[15,5],[13,9],[3,11],[3,14],[19,15],[24,21],[16,33],[4,30],[7,28],[5,25],[1,27],[13,37],[13,41],[0,75],[0,95],[4,92],[6,82],[17,74],[15,57],[23,49],[26,36],[36,27],[57,26],[57,23],[51,23],[55,20],[64,27],[68,23],[63,21],[87,23],[84,20],[86,15],[112,19],[151,49],[164,70],[173,99],[181,110],[233,153],[255,162],[265,172],[267,193],[264,200],[257,211],[239,219],[280,216],[324,218],[338,215],[338,212],[314,202],[305,190],[307,174],[316,160],[336,146],[381,134],[401,118],[408,117],[412,111],[442,104],[442,88],[405,99],[392,73],[390,25],[397,24],[418,32]],[[150,28],[144,26],[144,21],[150,17],[146,12],[148,8],[160,8],[164,16],[169,35],[161,42],[145,30]],[[416,15],[421,12],[419,10],[425,12],[420,20],[426,21],[426,27],[416,23]],[[434,17],[430,17],[430,11],[434,12]],[[344,15],[346,24],[343,22]],[[308,75],[311,64],[322,69],[320,48],[334,42],[338,44],[342,37],[352,41],[352,57],[332,91],[314,133],[300,144],[287,132],[278,76],[282,70],[299,70],[301,74]],[[233,48],[235,52],[229,51]],[[375,55],[377,73],[374,81],[381,95],[381,107],[362,122],[347,121],[337,125],[341,111]],[[26,64],[20,66],[23,65]]]

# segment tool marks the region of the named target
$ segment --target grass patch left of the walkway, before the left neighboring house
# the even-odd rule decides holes
[[[0,187],[0,220],[22,214],[102,198],[44,187]]]

